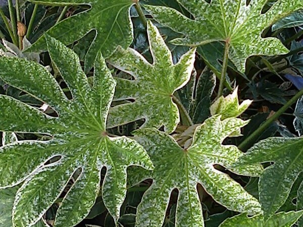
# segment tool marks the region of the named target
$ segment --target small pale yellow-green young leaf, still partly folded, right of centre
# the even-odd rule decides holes
[[[239,105],[238,100],[238,87],[233,91],[232,94],[226,97],[221,96],[211,105],[211,115],[222,115],[222,119],[236,118],[240,116],[251,104],[252,100],[244,100]]]

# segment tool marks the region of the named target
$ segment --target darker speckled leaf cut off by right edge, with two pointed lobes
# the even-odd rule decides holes
[[[259,181],[259,198],[265,218],[286,201],[291,186],[303,168],[303,138],[268,138],[255,144],[234,166],[274,162]]]

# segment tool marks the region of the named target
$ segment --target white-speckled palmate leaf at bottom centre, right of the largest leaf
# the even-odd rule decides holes
[[[221,121],[220,116],[214,116],[196,128],[193,143],[187,150],[171,136],[156,129],[135,131],[137,141],[155,165],[153,184],[138,206],[136,226],[161,226],[170,194],[175,188],[179,190],[176,226],[204,226],[196,191],[198,183],[230,210],[260,213],[258,200],[214,167],[214,164],[228,166],[242,155],[236,146],[222,145],[222,142],[231,132],[246,124],[240,119]]]

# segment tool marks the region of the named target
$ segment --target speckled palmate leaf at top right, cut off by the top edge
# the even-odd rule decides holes
[[[229,58],[239,71],[245,71],[245,61],[251,55],[274,55],[288,50],[276,38],[262,38],[270,25],[290,13],[302,9],[301,0],[278,0],[261,14],[267,0],[177,0],[193,16],[191,20],[174,9],[144,6],[160,23],[183,33],[173,40],[177,45],[198,46],[215,41],[230,43]]]

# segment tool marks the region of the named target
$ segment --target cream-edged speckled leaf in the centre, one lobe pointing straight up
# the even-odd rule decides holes
[[[135,101],[113,107],[110,110],[108,128],[145,119],[142,127],[164,126],[165,131],[171,133],[179,123],[179,111],[172,102],[172,95],[190,79],[195,48],[185,53],[174,65],[169,48],[150,21],[147,33],[154,58],[153,65],[131,48],[118,48],[110,59],[112,65],[134,77],[134,80],[116,78],[115,100]]]

